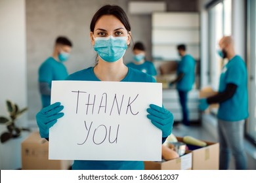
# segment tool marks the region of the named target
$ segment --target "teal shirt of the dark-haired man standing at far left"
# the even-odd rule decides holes
[[[65,80],[68,71],[65,65],[54,58],[46,59],[39,67],[39,82],[47,82],[51,88],[52,80]],[[41,95],[43,107],[51,105],[51,95]]]

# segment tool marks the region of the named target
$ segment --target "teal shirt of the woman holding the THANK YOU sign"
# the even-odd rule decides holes
[[[93,67],[83,69],[70,76],[66,80],[89,80],[100,81],[93,71]],[[129,68],[127,75],[121,82],[156,82],[156,80],[145,73]],[[102,152],[104,153],[104,152]],[[74,160],[72,169],[83,170],[133,170],[144,169],[143,161],[93,161]]]

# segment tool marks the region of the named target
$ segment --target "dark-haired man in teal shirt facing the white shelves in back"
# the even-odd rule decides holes
[[[177,84],[179,101],[182,108],[182,123],[190,125],[188,111],[188,92],[192,90],[195,81],[196,61],[192,56],[186,54],[186,45],[177,46],[181,61],[178,61],[177,78],[171,82],[171,85]]]

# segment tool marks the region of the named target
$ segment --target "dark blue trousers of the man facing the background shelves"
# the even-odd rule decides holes
[[[184,125],[189,125],[188,121],[188,92],[187,91],[181,91],[178,90],[179,92],[179,99],[181,103],[181,108],[182,108],[182,122]]]

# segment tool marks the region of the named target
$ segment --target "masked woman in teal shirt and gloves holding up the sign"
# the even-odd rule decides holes
[[[125,66],[123,55],[131,43],[131,26],[122,8],[106,5],[100,8],[91,21],[91,44],[98,53],[95,67],[83,69],[68,76],[67,80],[156,82],[150,75]],[[37,125],[42,138],[49,138],[49,128],[64,107],[54,103],[37,113]],[[162,141],[171,134],[173,114],[163,107],[150,105],[148,119],[162,131]],[[143,161],[82,161],[75,160],[72,169],[144,169]]]

